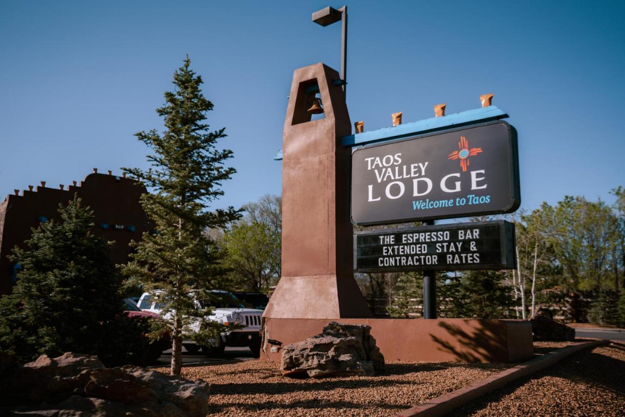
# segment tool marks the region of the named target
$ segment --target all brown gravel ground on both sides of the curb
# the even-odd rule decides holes
[[[534,342],[535,356],[571,344]],[[259,360],[183,368],[211,383],[216,416],[391,416],[514,364],[387,364],[374,377],[284,378]],[[169,373],[168,368],[156,371]],[[466,404],[454,415],[625,415],[625,345],[577,353]]]

